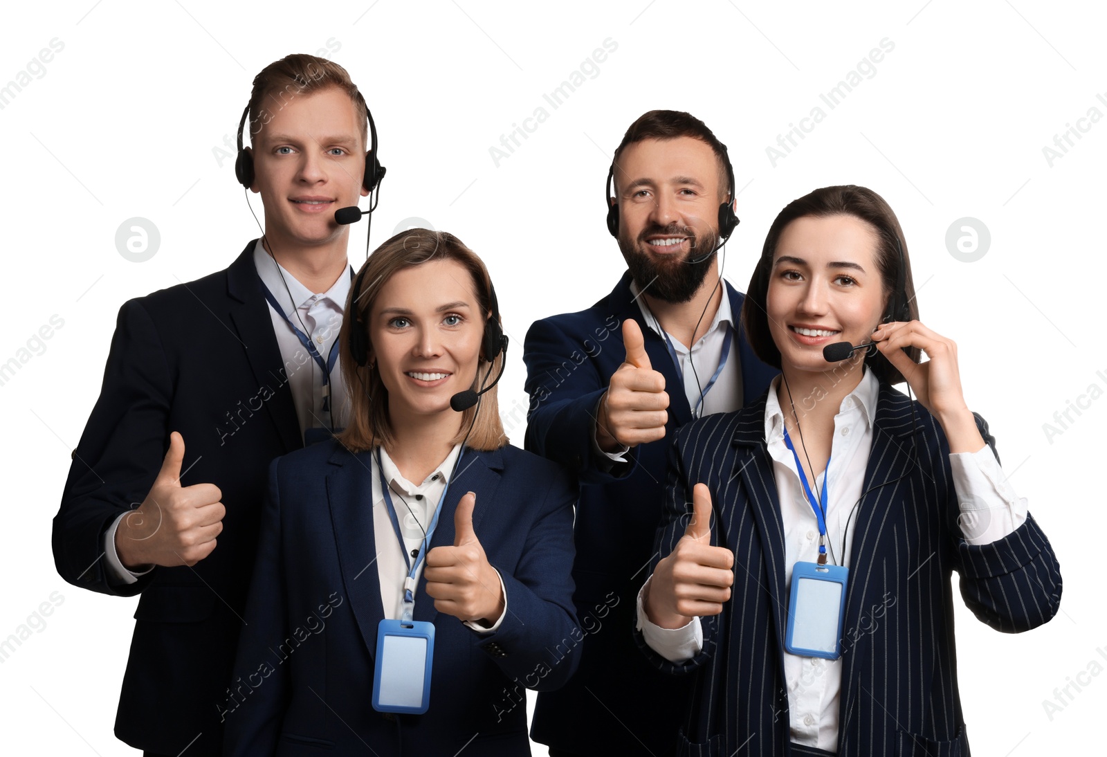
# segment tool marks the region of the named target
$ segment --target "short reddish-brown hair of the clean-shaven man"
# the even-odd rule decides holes
[[[369,107],[346,70],[325,58],[293,53],[273,61],[254,77],[250,91],[250,145],[261,127],[272,118],[272,112],[284,107],[292,97],[338,87],[353,101],[361,120],[361,141],[369,151]]]

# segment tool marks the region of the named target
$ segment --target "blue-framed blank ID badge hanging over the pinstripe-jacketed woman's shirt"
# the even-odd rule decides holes
[[[805,657],[840,656],[848,577],[849,568],[842,566],[796,563],[784,649]]]

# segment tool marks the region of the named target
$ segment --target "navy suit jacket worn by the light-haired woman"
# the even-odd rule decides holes
[[[475,492],[473,528],[504,580],[507,613],[495,632],[477,633],[439,614],[421,578],[415,620],[435,626],[431,705],[397,722],[371,705],[384,610],[370,460],[332,442],[272,464],[226,706],[227,753],[354,755],[369,745],[385,757],[401,754],[402,737],[407,755],[529,755],[524,687],[560,686],[580,656],[570,574],[576,486],[516,447],[465,450],[431,548],[454,543],[457,502]]]

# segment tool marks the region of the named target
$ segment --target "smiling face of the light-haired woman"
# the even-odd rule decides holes
[[[473,277],[455,260],[404,268],[381,287],[370,359],[389,391],[394,427],[413,415],[462,417],[449,398],[473,385],[483,333]]]

